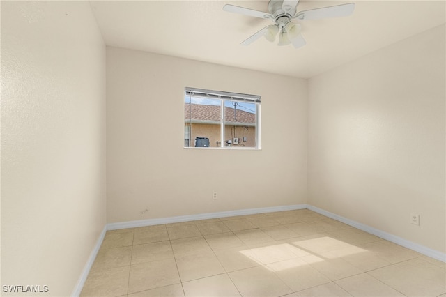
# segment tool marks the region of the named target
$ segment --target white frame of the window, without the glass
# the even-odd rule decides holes
[[[261,148],[261,96],[259,95],[250,95],[243,93],[231,93],[225,91],[213,91],[207,89],[197,89],[197,88],[185,88],[185,96],[193,96],[193,97],[201,97],[208,99],[217,99],[221,102],[221,117],[220,117],[220,147],[213,147],[214,149],[260,149]],[[254,103],[256,106],[256,135],[255,135],[255,146],[249,147],[240,147],[240,146],[226,146],[225,142],[225,117],[224,117],[224,102],[226,101],[236,101],[236,102],[246,102],[246,103]],[[189,131],[190,135],[192,135],[192,131]],[[191,138],[191,136],[190,136]],[[191,144],[192,139],[189,140]],[[185,148],[195,148],[193,146],[185,147]],[[199,148],[201,149],[201,148]],[[209,149],[209,148],[205,148]],[[212,149],[212,148],[210,148]]]

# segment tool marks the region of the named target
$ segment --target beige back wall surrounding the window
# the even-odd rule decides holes
[[[260,95],[262,149],[183,148],[185,86]],[[107,221],[305,204],[306,98],[303,79],[107,47]]]

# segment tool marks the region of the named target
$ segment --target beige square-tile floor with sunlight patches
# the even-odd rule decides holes
[[[81,296],[442,296],[445,263],[309,210],[107,231]]]

